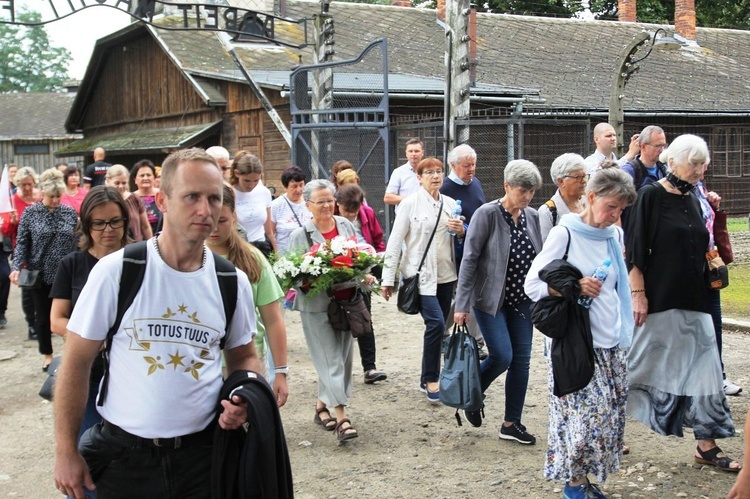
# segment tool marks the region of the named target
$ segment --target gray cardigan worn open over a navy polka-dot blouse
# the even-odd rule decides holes
[[[539,214],[525,208],[526,232],[534,250],[542,250]],[[495,315],[505,299],[505,273],[510,257],[510,227],[500,212],[498,201],[484,204],[471,217],[466,232],[464,257],[458,274],[456,312],[476,307]]]

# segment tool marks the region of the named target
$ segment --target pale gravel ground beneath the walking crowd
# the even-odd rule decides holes
[[[388,372],[379,385],[364,385],[355,363],[349,409],[360,437],[339,445],[313,424],[316,377],[296,313],[287,314],[291,396],[282,409],[298,498],[547,498],[560,497],[562,485],[542,477],[547,432],[547,368],[541,335],[534,338],[531,379],[524,423],[538,438],[524,447],[498,439],[503,413],[503,378],[488,390],[487,419],[481,428],[457,427],[454,411],[431,406],[418,391],[422,324],[373,303],[378,364]],[[52,404],[37,396],[44,379],[34,342],[25,341],[19,294],[13,290],[9,325],[0,330],[0,497],[56,498]],[[750,390],[750,342],[727,332],[726,369]],[[59,351],[62,342],[55,341]],[[355,359],[358,359],[355,351]],[[744,460],[741,429],[750,397],[729,400],[738,438],[722,441],[731,456]],[[656,435],[628,424],[632,452],[607,482],[610,497],[721,498],[735,476],[693,463],[694,440]]]

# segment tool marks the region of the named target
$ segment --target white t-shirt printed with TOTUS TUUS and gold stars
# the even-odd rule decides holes
[[[213,254],[195,272],[169,267],[147,245],[146,274],[125,312],[110,351],[109,385],[99,413],[143,438],[170,438],[205,428],[222,386],[221,350],[226,316]],[[93,268],[68,323],[83,338],[104,340],[117,313],[123,250]],[[256,333],[250,282],[238,275],[237,307],[224,344],[250,343]]]

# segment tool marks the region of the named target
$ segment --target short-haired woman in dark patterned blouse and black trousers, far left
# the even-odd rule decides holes
[[[46,372],[52,362],[49,292],[60,260],[75,248],[78,214],[70,206],[60,204],[65,182],[57,168],[42,172],[39,188],[42,200],[26,208],[18,225],[10,282],[18,285],[21,269],[39,271],[36,287],[29,291],[34,303],[39,353],[44,356],[42,371]]]

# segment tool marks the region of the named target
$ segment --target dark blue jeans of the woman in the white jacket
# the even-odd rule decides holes
[[[419,295],[420,313],[424,320],[424,346],[422,347],[422,384],[440,378],[440,355],[443,353],[443,331],[451,308],[453,286],[456,281],[437,285],[433,295]]]

